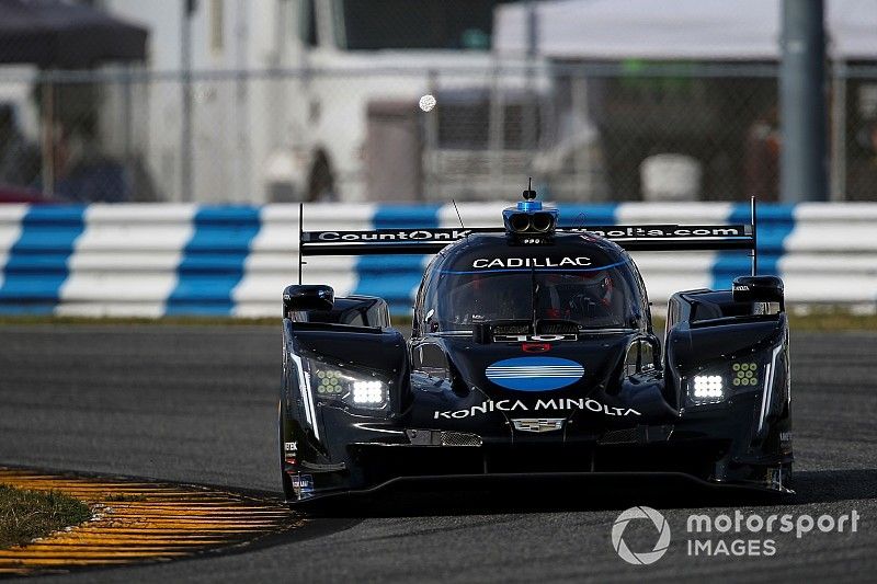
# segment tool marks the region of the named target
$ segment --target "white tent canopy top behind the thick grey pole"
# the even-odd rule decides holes
[[[536,3],[537,53],[592,60],[779,58],[782,0],[554,0]],[[527,50],[525,3],[497,9],[494,50]],[[877,60],[877,0],[825,0],[833,59]]]

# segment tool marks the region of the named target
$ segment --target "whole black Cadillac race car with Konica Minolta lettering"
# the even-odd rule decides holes
[[[300,255],[434,253],[410,341],[374,297],[283,295],[287,502],[410,479],[669,474],[790,492],[783,283],[751,225],[300,232]],[[663,344],[627,250],[749,250],[731,290],[670,299]],[[300,261],[300,259],[299,259]],[[299,266],[300,278],[300,266]]]

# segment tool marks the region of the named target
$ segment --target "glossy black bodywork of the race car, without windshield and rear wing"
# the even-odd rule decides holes
[[[630,317],[600,329],[534,317],[432,330],[436,278],[468,273],[479,259],[508,265],[521,257],[537,266],[565,257],[620,265],[634,290]],[[558,233],[526,247],[502,233],[469,236],[428,267],[408,341],[377,298],[335,298],[331,313],[285,310],[278,426],[286,499],[419,477],[570,472],[683,473],[790,492],[788,322],[771,308],[734,301],[731,290],[677,293],[662,343],[639,272],[615,243]],[[323,369],[385,388],[386,403],[369,410],[349,392],[320,393]],[[532,376],[536,389],[508,387],[509,371]],[[539,371],[574,381],[543,390]],[[696,403],[696,376],[720,378],[724,398]]]

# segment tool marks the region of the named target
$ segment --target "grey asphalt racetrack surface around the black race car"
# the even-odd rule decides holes
[[[502,484],[408,489],[311,518],[254,551],[52,576],[58,582],[235,581],[873,581],[877,570],[877,333],[791,339],[796,454],[790,501],[685,484]],[[247,327],[0,328],[0,465],[267,491],[280,496],[281,330]],[[562,486],[562,488],[561,488]],[[651,505],[672,540],[629,565],[610,533]],[[690,514],[859,514],[843,534],[686,533]],[[848,525],[847,525],[848,527]],[[651,551],[651,524],[624,533]],[[687,540],[774,540],[773,556],[690,557]]]

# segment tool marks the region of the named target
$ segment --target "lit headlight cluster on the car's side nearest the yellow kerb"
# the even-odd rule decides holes
[[[366,410],[381,410],[389,401],[388,385],[366,371],[311,360],[310,383],[317,398],[323,401],[340,401]]]

